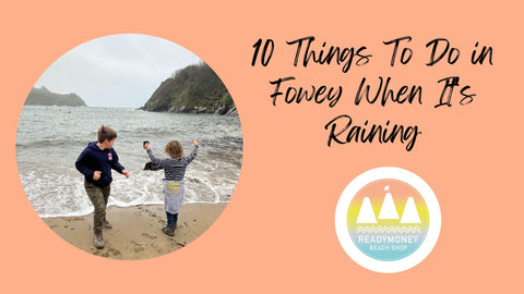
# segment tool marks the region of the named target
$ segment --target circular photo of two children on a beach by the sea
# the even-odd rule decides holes
[[[147,35],[97,38],[36,82],[20,115],[16,161],[38,216],[90,254],[138,260],[203,234],[242,163],[224,83],[181,46]]]

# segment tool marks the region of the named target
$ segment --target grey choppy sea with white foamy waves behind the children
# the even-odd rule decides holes
[[[16,161],[25,194],[41,218],[86,216],[93,206],[83,175],[74,167],[96,131],[104,124],[118,137],[114,148],[130,172],[126,179],[112,171],[108,206],[164,204],[164,171],[145,171],[150,161],[142,147],[151,143],[156,157],[168,157],[171,139],[186,155],[200,144],[196,158],[186,171],[183,204],[228,203],[242,163],[242,132],[238,117],[146,112],[136,109],[96,107],[24,106],[16,133]]]

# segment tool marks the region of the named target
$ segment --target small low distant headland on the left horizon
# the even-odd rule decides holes
[[[46,87],[33,88],[25,100],[26,106],[86,106],[74,93],[57,94]]]

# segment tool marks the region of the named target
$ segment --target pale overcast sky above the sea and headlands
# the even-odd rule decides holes
[[[200,62],[183,47],[162,38],[112,35],[64,53],[35,87],[75,93],[90,107],[139,108],[171,73]]]

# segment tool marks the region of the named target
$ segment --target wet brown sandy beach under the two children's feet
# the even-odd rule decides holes
[[[64,241],[93,255],[136,260],[175,252],[205,232],[227,204],[188,204],[180,209],[175,236],[162,232],[166,225],[163,205],[108,207],[112,229],[104,229],[105,248],[93,241],[93,215],[86,217],[46,218],[45,223]]]

